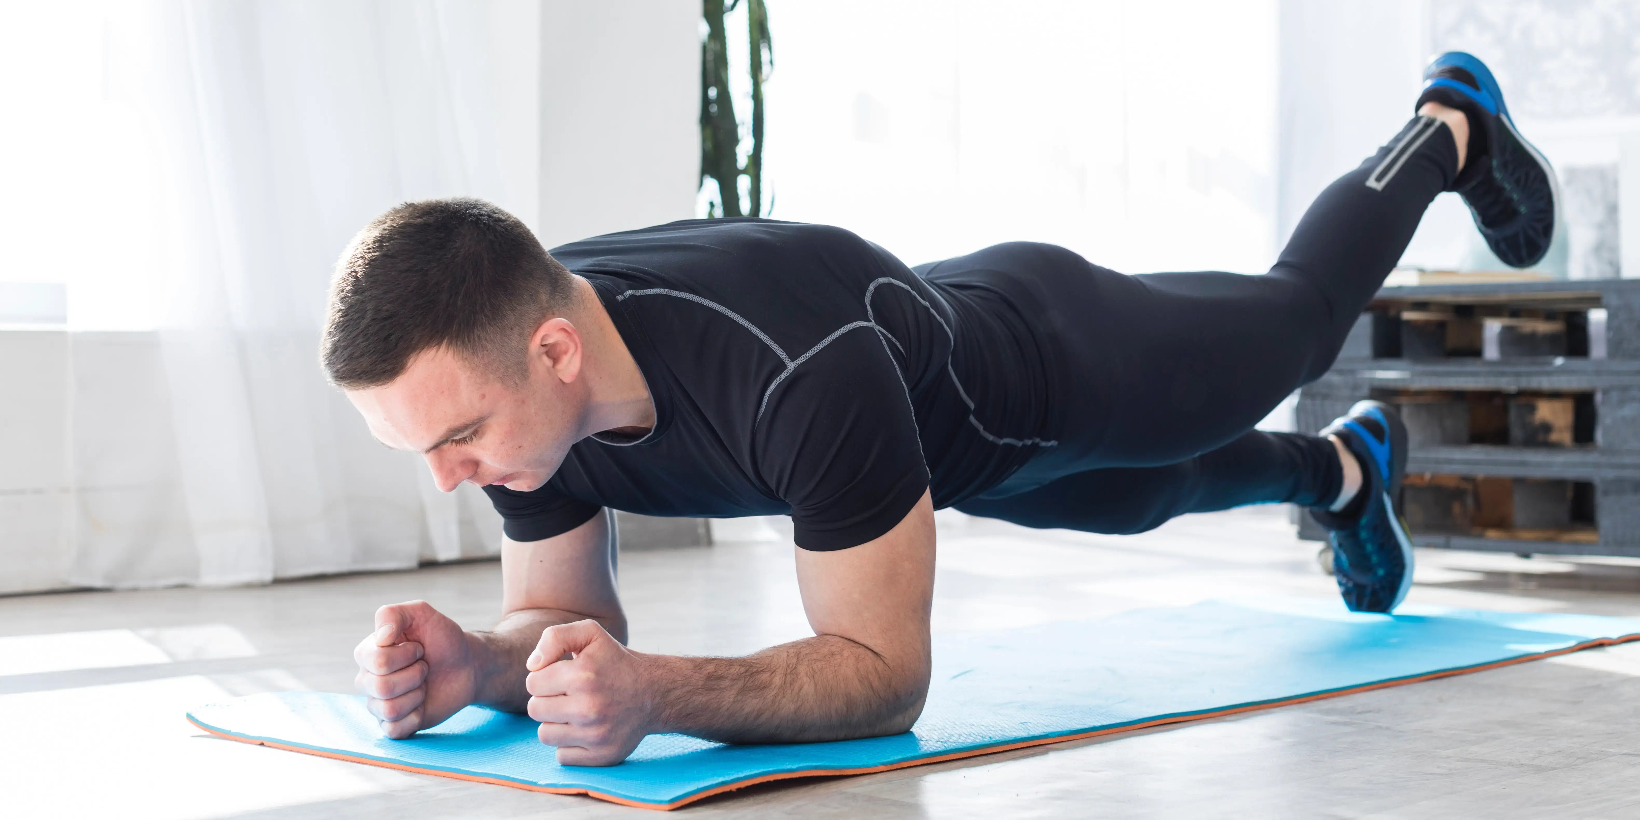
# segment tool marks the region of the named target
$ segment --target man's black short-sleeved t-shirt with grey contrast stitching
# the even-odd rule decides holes
[[[515,541],[612,507],[789,513],[799,546],[843,549],[925,489],[948,507],[1053,446],[1048,353],[1018,305],[925,280],[841,228],[695,220],[551,253],[597,289],[656,423],[576,443],[536,490],[484,487]]]

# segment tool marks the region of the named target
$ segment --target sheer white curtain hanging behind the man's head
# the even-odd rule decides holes
[[[72,335],[72,571],[246,584],[499,548],[318,367],[330,267],[413,198],[533,220],[533,3],[151,2],[107,10],[107,93],[161,180],[154,333]],[[525,108],[520,112],[520,108]],[[520,134],[520,126],[528,131]]]

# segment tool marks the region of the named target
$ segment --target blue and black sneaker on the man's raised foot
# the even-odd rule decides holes
[[[1469,118],[1469,146],[1453,190],[1469,205],[1486,244],[1514,267],[1543,259],[1555,239],[1560,184],[1548,159],[1515,130],[1504,92],[1486,64],[1448,51],[1424,71],[1427,102],[1458,108]]]

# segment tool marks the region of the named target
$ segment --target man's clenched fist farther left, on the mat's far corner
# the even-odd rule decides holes
[[[353,649],[354,682],[389,738],[431,728],[477,694],[472,638],[425,600],[376,610],[376,631]]]

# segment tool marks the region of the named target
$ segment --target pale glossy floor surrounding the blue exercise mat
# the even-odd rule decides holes
[[[622,556],[633,645],[807,635],[789,543]],[[1330,597],[1281,508],[1143,536],[941,522],[936,630],[1223,594]],[[1422,551],[1410,600],[1640,615],[1640,563]],[[0,599],[0,817],[654,817],[202,736],[223,694],[349,690],[379,604],[497,615],[494,563],[256,589]],[[41,635],[75,633],[51,640]],[[1640,817],[1640,646],[895,772],[772,784],[687,817]]]

